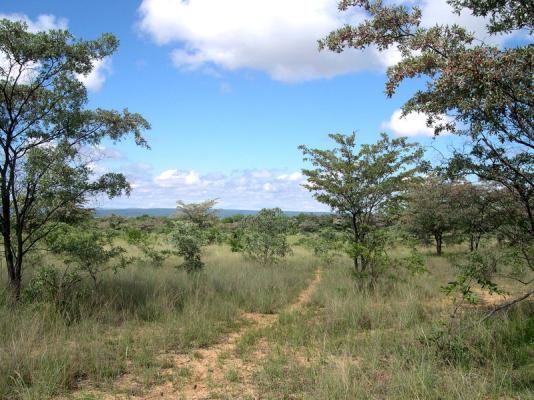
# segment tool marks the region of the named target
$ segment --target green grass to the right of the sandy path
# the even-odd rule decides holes
[[[450,325],[439,291],[444,258],[429,274],[373,291],[349,265],[323,271],[304,313],[268,333],[272,352],[256,373],[268,399],[497,399],[534,397],[534,304],[485,324]],[[480,318],[470,310],[466,320]]]

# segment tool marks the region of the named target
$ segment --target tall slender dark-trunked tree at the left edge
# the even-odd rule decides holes
[[[139,114],[88,110],[79,74],[117,49],[110,34],[75,40],[65,30],[31,33],[0,20],[0,224],[10,288],[20,296],[24,256],[62,216],[90,196],[129,193],[122,174],[95,177],[88,151],[132,133],[146,146]]]

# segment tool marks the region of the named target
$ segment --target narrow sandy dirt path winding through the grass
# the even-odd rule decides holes
[[[298,296],[297,301],[285,307],[282,312],[297,312],[311,300],[311,296],[321,280],[320,270],[316,270],[314,279]],[[280,314],[244,313],[249,321],[243,329],[226,336],[221,342],[198,349],[191,354],[165,354],[166,360],[172,360],[172,368],[165,383],[153,386],[143,394],[128,390],[135,385],[135,379],[126,375],[117,382],[118,388],[124,388],[127,395],[105,395],[111,399],[185,399],[200,400],[211,398],[256,399],[253,374],[269,352],[267,341],[260,337],[255,343],[250,357],[240,358],[236,354],[239,341],[247,334],[272,326]],[[176,376],[184,371],[183,376]]]

